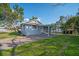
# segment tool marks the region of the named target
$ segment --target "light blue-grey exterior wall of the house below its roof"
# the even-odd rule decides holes
[[[21,32],[23,35],[37,35],[41,34],[41,31],[33,28],[32,26],[22,26]]]

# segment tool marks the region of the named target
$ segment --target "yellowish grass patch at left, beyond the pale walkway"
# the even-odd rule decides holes
[[[0,39],[14,38],[20,36],[16,32],[0,32]]]

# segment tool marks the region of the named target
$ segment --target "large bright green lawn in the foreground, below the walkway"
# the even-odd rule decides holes
[[[79,56],[79,36],[61,35],[23,44],[14,50],[17,56]],[[11,55],[10,50],[2,55]]]

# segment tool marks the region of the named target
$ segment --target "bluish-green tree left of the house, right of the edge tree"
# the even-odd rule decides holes
[[[14,24],[14,29],[16,31],[18,31],[19,26],[15,26],[16,22],[19,21],[21,22],[24,19],[24,9],[22,7],[19,7],[19,5],[15,4],[13,6],[13,12],[12,12],[12,16],[13,16],[13,24]],[[17,22],[18,23],[18,22]]]

